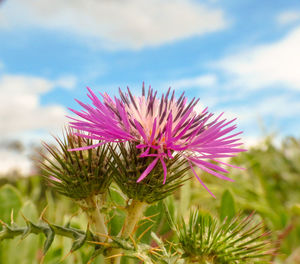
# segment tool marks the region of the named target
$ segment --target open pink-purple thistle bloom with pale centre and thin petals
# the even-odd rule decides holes
[[[149,87],[142,96],[133,96],[119,89],[120,98],[113,99],[106,93],[101,94],[102,101],[88,88],[88,97],[93,105],[76,100],[85,110],[79,112],[70,109],[82,119],[71,118],[71,127],[86,133],[77,134],[84,138],[99,140],[100,143],[82,148],[94,148],[108,142],[135,142],[143,157],[153,157],[153,161],[143,171],[137,182],[142,181],[161,163],[164,172],[163,183],[167,179],[166,160],[173,158],[173,153],[180,153],[188,162],[193,174],[205,189],[214,196],[197,175],[194,167],[198,167],[218,178],[232,181],[221,173],[227,170],[215,163],[235,167],[220,162],[219,158],[233,157],[244,149],[239,148],[239,134],[232,133],[236,129],[235,119],[221,119],[222,114],[213,119],[213,114],[205,108],[196,113],[194,108],[199,99],[188,102],[184,93],[176,100],[175,91],[171,88],[157,98],[157,91]],[[213,163],[212,163],[213,162]]]

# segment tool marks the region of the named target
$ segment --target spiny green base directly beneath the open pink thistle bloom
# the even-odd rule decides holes
[[[178,189],[188,178],[185,176],[189,165],[180,155],[166,162],[168,177],[163,182],[164,168],[156,164],[149,175],[138,182],[140,175],[153,162],[152,157],[139,157],[141,151],[135,143],[119,143],[118,148],[112,149],[113,177],[123,193],[128,198],[146,203],[164,199]]]

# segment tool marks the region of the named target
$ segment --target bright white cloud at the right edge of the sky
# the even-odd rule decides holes
[[[300,90],[300,27],[283,39],[249,48],[214,63],[224,71],[232,87],[259,89],[285,85]]]

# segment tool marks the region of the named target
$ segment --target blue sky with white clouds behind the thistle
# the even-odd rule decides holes
[[[245,145],[299,137],[299,0],[0,0],[0,173],[67,124],[86,87],[142,83],[237,118]]]

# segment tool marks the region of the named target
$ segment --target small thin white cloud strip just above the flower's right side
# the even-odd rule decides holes
[[[199,75],[193,78],[179,79],[171,83],[171,87],[178,89],[213,86],[217,83],[217,76],[213,74]]]

